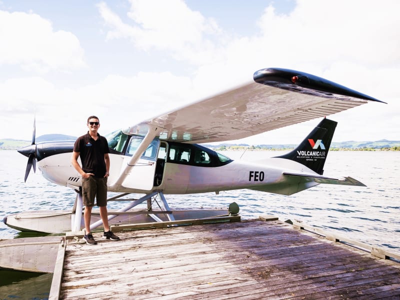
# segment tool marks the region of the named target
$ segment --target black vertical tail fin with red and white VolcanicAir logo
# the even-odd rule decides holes
[[[294,150],[276,157],[297,161],[322,175],[336,124],[324,118]]]

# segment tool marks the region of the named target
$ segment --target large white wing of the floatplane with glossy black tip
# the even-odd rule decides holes
[[[234,140],[326,116],[375,98],[311,74],[280,68],[258,70],[253,82],[181,107],[128,129],[186,143]]]

